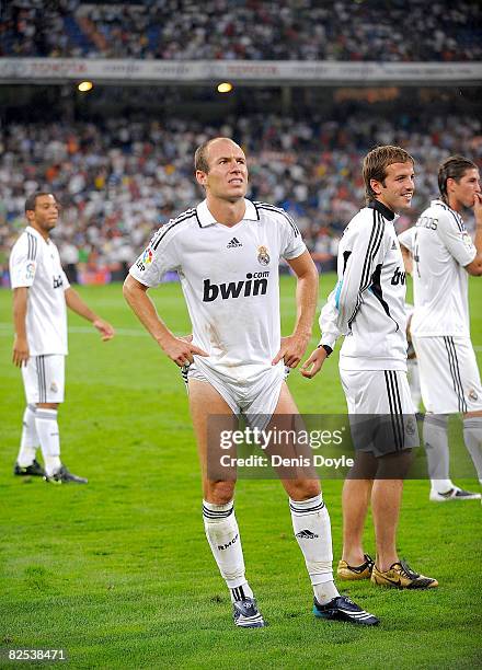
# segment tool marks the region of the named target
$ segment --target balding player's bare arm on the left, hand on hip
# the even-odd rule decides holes
[[[188,338],[176,337],[171,333],[147,294],[148,288],[128,275],[124,281],[123,293],[127,304],[164,354],[180,367],[192,363],[193,354],[208,356],[206,351],[187,342]]]

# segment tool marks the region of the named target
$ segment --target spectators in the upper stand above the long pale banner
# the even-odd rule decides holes
[[[474,0],[10,0],[0,56],[174,60],[482,58]]]

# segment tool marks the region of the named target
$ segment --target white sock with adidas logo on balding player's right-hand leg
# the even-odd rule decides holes
[[[321,494],[308,500],[289,499],[292,530],[305,556],[314,597],[326,604],[340,596],[333,582],[331,523]]]

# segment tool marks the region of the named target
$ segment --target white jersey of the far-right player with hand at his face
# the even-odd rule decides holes
[[[477,250],[460,215],[441,200],[433,200],[399,239],[413,256],[412,335],[470,336],[464,266],[474,259]]]

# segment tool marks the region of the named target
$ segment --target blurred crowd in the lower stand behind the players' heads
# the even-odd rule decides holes
[[[450,115],[426,122],[364,114],[306,122],[260,114],[228,118],[219,127],[123,118],[103,126],[13,124],[0,132],[0,267],[5,269],[25,224],[26,196],[42,189],[62,205],[55,236],[64,263],[72,272],[80,268],[84,280],[122,278],[159,223],[203,197],[193,178],[193,154],[215,135],[232,137],[245,149],[250,197],[289,211],[324,267],[363,206],[360,164],[375,145],[400,145],[416,160],[416,195],[401,228],[436,195],[443,159],[461,152],[482,162],[481,122]]]

